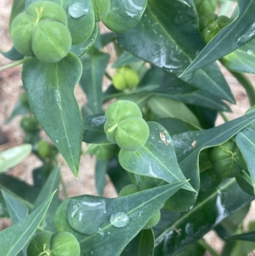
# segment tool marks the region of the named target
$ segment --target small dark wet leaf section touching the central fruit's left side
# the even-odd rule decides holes
[[[82,140],[92,144],[111,144],[106,137],[104,125],[104,114],[84,117],[84,137]]]

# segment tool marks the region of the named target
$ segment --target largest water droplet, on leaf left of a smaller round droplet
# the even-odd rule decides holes
[[[91,236],[103,232],[101,225],[106,222],[106,200],[85,196],[84,199],[70,200],[68,223],[78,232]]]

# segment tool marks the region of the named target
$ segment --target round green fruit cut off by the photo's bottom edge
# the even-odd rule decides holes
[[[27,247],[27,256],[80,256],[80,245],[73,234],[43,231],[33,237]]]

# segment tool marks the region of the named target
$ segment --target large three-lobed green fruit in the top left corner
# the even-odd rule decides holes
[[[57,63],[71,49],[71,34],[64,9],[51,1],[31,3],[11,24],[11,39],[25,56]]]

